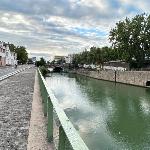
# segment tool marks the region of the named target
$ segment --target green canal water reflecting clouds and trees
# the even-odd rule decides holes
[[[53,74],[46,79],[90,150],[150,149],[150,90]]]

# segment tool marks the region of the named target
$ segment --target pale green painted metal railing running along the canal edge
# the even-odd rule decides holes
[[[74,128],[63,109],[59,106],[58,100],[48,88],[45,79],[38,69],[41,96],[44,104],[44,115],[48,118],[47,137],[53,141],[53,120],[54,112],[59,119],[59,143],[58,150],[89,150],[77,130]],[[68,146],[69,145],[69,146]]]

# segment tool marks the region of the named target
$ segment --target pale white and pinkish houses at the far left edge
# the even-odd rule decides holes
[[[17,54],[11,52],[9,44],[0,41],[0,66],[15,65],[17,62]]]

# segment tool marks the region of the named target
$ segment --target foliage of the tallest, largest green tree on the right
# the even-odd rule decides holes
[[[150,57],[150,15],[136,15],[116,24],[110,31],[110,41],[121,59],[142,67]]]

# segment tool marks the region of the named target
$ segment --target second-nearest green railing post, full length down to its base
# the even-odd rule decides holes
[[[47,137],[48,137],[48,141],[51,142],[53,141],[53,105],[49,96],[47,97],[47,102],[48,102]]]

